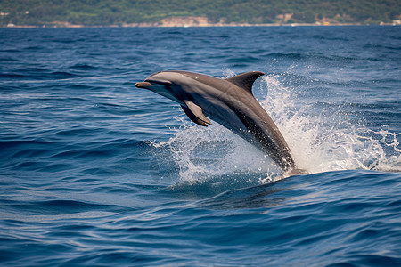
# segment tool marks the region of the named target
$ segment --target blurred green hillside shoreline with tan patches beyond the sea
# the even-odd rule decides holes
[[[400,20],[401,4],[400,0],[0,0],[2,27],[154,26],[174,21],[171,17],[201,18],[201,25],[378,24]]]

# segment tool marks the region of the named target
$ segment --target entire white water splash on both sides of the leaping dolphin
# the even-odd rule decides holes
[[[225,69],[223,75],[232,77],[233,71]],[[282,85],[280,75],[262,77],[257,87],[259,102],[279,127],[299,168],[308,173],[401,171],[400,134],[374,132],[355,124],[342,109],[299,104],[295,88]],[[200,127],[184,116],[177,119],[182,126],[175,136],[167,142],[152,142],[164,155],[163,164],[160,157],[157,159],[158,168],[175,166],[170,173],[172,182],[219,184],[228,175],[231,182],[252,186],[282,178],[282,171],[271,158],[225,127],[217,123]]]

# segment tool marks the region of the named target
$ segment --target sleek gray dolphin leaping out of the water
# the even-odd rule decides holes
[[[195,124],[211,125],[211,118],[264,151],[283,171],[299,174],[287,142],[252,94],[253,83],[263,75],[252,71],[220,79],[188,71],[160,71],[135,86],[176,101]]]

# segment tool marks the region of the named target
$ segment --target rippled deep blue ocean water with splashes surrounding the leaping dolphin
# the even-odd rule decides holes
[[[0,28],[0,265],[400,266],[401,28]],[[254,86],[307,174],[151,73]]]

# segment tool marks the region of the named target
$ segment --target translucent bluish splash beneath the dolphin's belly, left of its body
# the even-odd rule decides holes
[[[174,161],[178,182],[206,181],[225,174],[253,174],[248,178],[253,185],[266,179],[267,173],[280,173],[271,158],[225,127],[214,123],[206,128],[183,120],[184,125],[174,137],[152,144]]]

